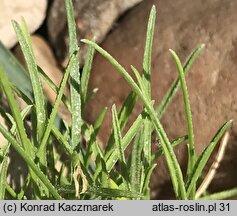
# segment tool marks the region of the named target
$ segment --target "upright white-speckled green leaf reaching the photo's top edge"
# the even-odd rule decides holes
[[[82,126],[78,43],[72,1],[65,0],[65,6],[69,32],[69,56],[71,56],[74,52],[77,53],[77,61],[74,62],[70,71],[70,94],[72,109],[71,145],[73,149],[78,150],[81,142]]]

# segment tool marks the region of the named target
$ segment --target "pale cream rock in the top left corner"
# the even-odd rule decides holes
[[[13,47],[17,39],[11,20],[21,22],[21,18],[24,17],[29,31],[32,33],[42,24],[46,15],[46,9],[47,0],[1,0],[0,41],[8,48]]]

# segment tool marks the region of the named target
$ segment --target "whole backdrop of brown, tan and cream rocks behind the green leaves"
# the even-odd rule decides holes
[[[3,3],[4,2],[4,3]],[[67,27],[63,0],[29,1],[29,6],[19,3],[17,9],[9,12],[10,1],[1,1],[0,11],[4,11],[10,19],[18,16],[22,8],[28,25],[38,21],[31,29],[34,32],[33,44],[38,63],[49,76],[59,83],[62,68],[65,66],[67,54]],[[19,1],[21,2],[21,1]],[[28,1],[27,1],[28,2]],[[41,6],[38,4],[42,3]],[[16,1],[14,1],[16,4]],[[35,3],[33,5],[33,3]],[[177,77],[174,61],[168,51],[175,50],[184,61],[190,52],[200,43],[206,48],[188,75],[195,142],[198,152],[210,142],[220,126],[229,119],[236,121],[237,115],[237,1],[236,0],[75,0],[75,19],[78,37],[92,39],[111,53],[125,68],[130,70],[134,65],[142,70],[143,47],[147,18],[153,4],[157,6],[157,22],[152,58],[152,95],[156,104]],[[14,4],[14,6],[15,6]],[[132,8],[133,7],[133,8]],[[35,10],[33,10],[35,8]],[[128,10],[129,9],[129,10]],[[24,15],[24,10],[27,11]],[[39,17],[36,14],[40,11]],[[32,12],[27,19],[28,13]],[[1,17],[2,17],[2,13]],[[45,18],[46,17],[46,18]],[[45,20],[44,20],[45,18]],[[44,20],[44,21],[43,21]],[[7,21],[0,22],[0,40],[10,36],[4,29]],[[10,23],[10,22],[9,22]],[[9,33],[9,35],[8,35]],[[4,42],[12,47],[15,42]],[[10,44],[10,45],[9,45]],[[19,48],[13,47],[20,58]],[[85,48],[81,48],[81,63]],[[82,65],[81,64],[81,65]],[[99,88],[96,97],[88,104],[85,118],[94,122],[99,110],[113,103],[119,107],[130,91],[129,86],[113,67],[100,55],[96,55],[93,65],[90,87]],[[46,89],[51,101],[54,95]],[[133,118],[140,112],[138,106]],[[65,114],[67,118],[67,114]],[[181,92],[175,97],[162,123],[171,139],[187,132]],[[106,142],[111,128],[111,115],[107,113],[103,128],[100,131],[102,142]],[[226,156],[212,182],[211,189],[220,191],[237,186],[237,127],[234,123],[228,141]],[[154,146],[156,142],[154,142]],[[178,158],[185,170],[186,148],[176,149]],[[152,187],[154,197],[170,198],[171,186],[163,160],[158,161],[157,172],[153,175]]]

